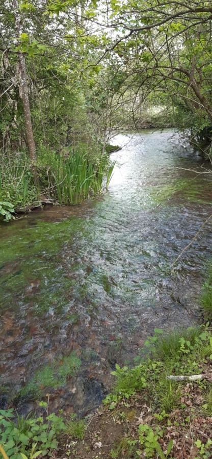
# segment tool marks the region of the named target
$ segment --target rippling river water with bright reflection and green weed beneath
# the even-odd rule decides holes
[[[202,160],[171,130],[115,143],[107,193],[0,226],[3,407],[48,391],[52,410],[88,413],[154,327],[197,320],[209,222],[171,265],[211,213],[210,176],[185,170]]]

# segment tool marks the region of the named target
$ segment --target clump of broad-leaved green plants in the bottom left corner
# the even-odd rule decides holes
[[[65,419],[55,413],[48,413],[48,401],[41,401],[44,409],[43,416],[35,417],[32,414],[19,416],[13,409],[0,410],[0,446],[3,445],[4,454],[0,457],[10,459],[35,459],[36,457],[53,457],[58,449],[61,438],[67,440],[82,440],[86,423],[78,420],[75,415]]]

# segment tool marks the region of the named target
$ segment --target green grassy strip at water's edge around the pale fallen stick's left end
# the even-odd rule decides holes
[[[147,354],[140,358],[139,365],[133,368],[116,365],[112,372],[116,378],[114,392],[104,401],[111,403],[111,409],[122,397],[143,392],[155,408],[172,411],[179,403],[181,383],[170,381],[167,376],[199,374],[202,362],[212,355],[211,331],[204,325],[173,331],[169,335],[155,331],[146,341]]]

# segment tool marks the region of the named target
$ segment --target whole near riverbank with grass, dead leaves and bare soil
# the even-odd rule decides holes
[[[136,366],[116,365],[114,390],[95,413],[84,420],[49,415],[47,394],[40,418],[18,417],[14,424],[13,410],[1,410],[0,443],[13,459],[29,457],[32,448],[33,457],[209,458],[211,359],[208,323],[170,335],[155,329]]]

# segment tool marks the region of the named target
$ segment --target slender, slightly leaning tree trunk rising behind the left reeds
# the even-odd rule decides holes
[[[14,6],[14,16],[15,16],[15,27],[17,37],[22,33],[22,25],[20,20],[20,10],[18,6],[18,0],[13,0]],[[33,136],[33,127],[31,120],[31,111],[30,111],[30,101],[29,101],[29,92],[28,92],[28,80],[26,76],[26,66],[25,66],[25,57],[24,54],[18,52],[18,73],[19,73],[19,94],[23,101],[23,113],[25,121],[25,130],[26,130],[26,140],[28,143],[30,159],[33,167],[33,176],[35,183],[38,181],[38,176],[36,172],[36,147]]]

